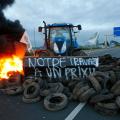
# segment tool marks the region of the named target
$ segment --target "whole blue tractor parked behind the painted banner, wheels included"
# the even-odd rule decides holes
[[[44,30],[44,49],[36,50],[35,56],[86,56],[79,48],[74,32],[75,27],[81,30],[81,25],[43,23],[44,27],[39,27],[39,32]]]

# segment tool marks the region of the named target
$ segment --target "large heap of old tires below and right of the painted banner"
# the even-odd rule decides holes
[[[88,102],[102,115],[115,115],[120,110],[120,59],[100,57],[99,68],[86,78],[51,83],[30,76],[21,88],[25,103],[44,99],[44,107],[49,111],[62,110],[73,100]]]

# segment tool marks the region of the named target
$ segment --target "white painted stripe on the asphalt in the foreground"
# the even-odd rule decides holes
[[[86,103],[80,103],[68,116],[65,120],[73,120],[75,116],[82,110]]]

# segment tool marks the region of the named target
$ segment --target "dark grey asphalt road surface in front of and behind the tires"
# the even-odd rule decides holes
[[[114,57],[120,57],[120,48],[109,48],[90,52],[90,56],[100,56],[112,54]],[[65,120],[72,111],[78,106],[78,102],[70,102],[69,105],[61,111],[50,112],[43,106],[43,101],[35,104],[25,104],[22,102],[22,96],[7,96],[0,93],[0,120]],[[120,115],[102,116],[86,104],[74,119],[67,120],[120,120]]]

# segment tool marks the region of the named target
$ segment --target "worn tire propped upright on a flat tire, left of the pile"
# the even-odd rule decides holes
[[[40,93],[40,87],[37,83],[32,82],[24,89],[24,97],[25,98],[35,98]]]

